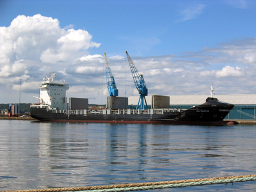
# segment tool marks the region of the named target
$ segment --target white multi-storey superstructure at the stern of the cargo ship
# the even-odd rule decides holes
[[[40,84],[40,105],[48,106],[48,108],[57,110],[67,110],[68,100],[66,97],[66,91],[68,90],[68,84],[54,82],[55,74],[50,73],[51,76],[44,78]],[[35,97],[35,96],[34,96]]]

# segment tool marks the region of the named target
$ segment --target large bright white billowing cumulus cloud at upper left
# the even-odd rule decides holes
[[[74,61],[87,54],[92,42],[88,31],[61,29],[58,19],[19,15],[9,27],[0,27],[0,62],[40,60],[47,63]]]

